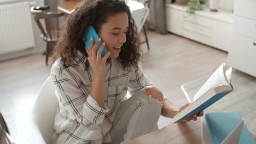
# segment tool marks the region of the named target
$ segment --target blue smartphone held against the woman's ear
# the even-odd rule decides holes
[[[88,49],[90,50],[90,45],[91,45],[91,37],[94,38],[94,45],[96,43],[96,41],[100,38],[97,34],[97,32],[95,31],[94,27],[89,26],[88,27],[88,33],[84,35],[83,37],[83,41],[85,43],[85,45],[88,47]],[[98,52],[98,50],[100,49],[102,45],[102,42],[100,43],[100,45],[98,45],[97,49],[96,49],[96,53]],[[103,48],[103,51],[101,53],[101,57],[104,57],[106,54],[108,53],[106,47]]]

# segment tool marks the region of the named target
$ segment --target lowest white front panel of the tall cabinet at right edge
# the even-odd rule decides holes
[[[243,37],[232,33],[231,49],[228,55],[228,64],[256,76],[256,39]]]

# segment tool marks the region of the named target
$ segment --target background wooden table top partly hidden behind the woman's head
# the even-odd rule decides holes
[[[69,0],[65,1],[58,5],[58,9],[60,11],[63,11],[64,13],[71,14],[75,7],[79,5],[79,3],[82,2],[82,0]],[[128,1],[127,5],[130,7],[130,10],[136,10],[136,9],[142,9],[144,8],[144,5],[142,3],[136,2],[136,1]]]

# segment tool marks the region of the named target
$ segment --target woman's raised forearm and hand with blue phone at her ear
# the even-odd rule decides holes
[[[106,62],[111,53],[110,51],[107,52],[105,43],[102,43],[96,31],[92,31],[94,30],[92,27],[88,30],[89,32],[85,34],[83,41],[86,45],[85,50],[88,53],[88,61],[92,69],[90,95],[97,101],[98,105],[104,109],[104,79],[107,71]]]

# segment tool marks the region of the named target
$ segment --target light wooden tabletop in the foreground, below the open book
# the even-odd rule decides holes
[[[171,120],[171,119],[170,119]],[[201,143],[201,118],[197,121],[174,123],[125,144]]]

